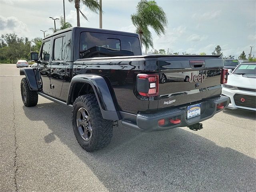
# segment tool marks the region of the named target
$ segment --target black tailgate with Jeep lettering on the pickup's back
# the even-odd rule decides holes
[[[221,58],[158,58],[158,66],[158,109],[189,104],[221,94]]]

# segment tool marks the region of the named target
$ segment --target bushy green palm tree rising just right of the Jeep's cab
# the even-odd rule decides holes
[[[136,6],[136,13],[131,15],[132,24],[136,27],[136,33],[140,35],[140,41],[146,49],[153,47],[151,27],[158,36],[165,34],[168,20],[164,10],[154,0],[140,0]]]

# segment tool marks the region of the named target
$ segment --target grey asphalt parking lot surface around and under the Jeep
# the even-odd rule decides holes
[[[204,129],[142,133],[119,124],[88,153],[70,110],[23,106],[19,69],[0,64],[0,191],[256,191],[255,112],[224,110]]]

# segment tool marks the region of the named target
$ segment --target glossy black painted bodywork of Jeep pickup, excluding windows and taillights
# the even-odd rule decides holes
[[[43,44],[47,42],[51,45],[50,60],[42,60],[41,50],[38,60],[40,67],[35,70],[35,74],[38,71],[41,76],[39,92],[68,105],[72,105],[77,96],[94,92],[103,118],[133,122],[137,114],[152,114],[176,106],[204,102],[221,94],[220,70],[223,62],[219,56],[139,55],[80,59],[82,32],[109,34],[111,38],[115,35],[132,36],[138,38],[139,42],[138,34],[80,27],[44,38]],[[54,40],[60,37],[65,37],[64,59],[54,60]],[[198,66],[195,65],[197,62],[193,62],[197,60],[202,61]],[[136,77],[140,73],[159,75],[158,96],[138,94]],[[206,78],[202,82],[188,82],[191,73]]]

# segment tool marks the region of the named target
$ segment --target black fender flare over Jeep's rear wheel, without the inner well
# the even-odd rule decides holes
[[[100,106],[100,111],[102,117],[108,120],[121,120],[121,115],[118,111],[117,106],[115,105],[115,95],[110,86],[107,83],[107,80],[100,75],[95,74],[79,74],[72,78],[70,82],[70,87],[68,90],[67,105],[71,104],[70,99],[72,96],[73,88],[76,83],[88,83],[92,86],[98,104]]]

